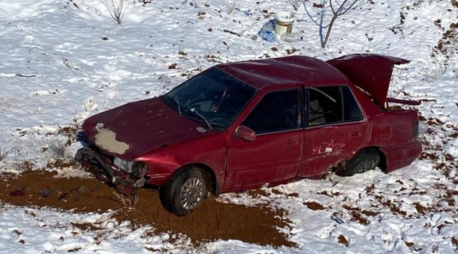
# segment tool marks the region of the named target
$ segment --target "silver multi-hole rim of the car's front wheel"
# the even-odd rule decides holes
[[[194,210],[204,198],[204,181],[199,177],[187,179],[180,191],[180,205],[185,210]]]

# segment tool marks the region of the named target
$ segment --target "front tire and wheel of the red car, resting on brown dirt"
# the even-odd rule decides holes
[[[179,217],[194,211],[207,198],[208,184],[205,179],[204,171],[198,167],[181,169],[173,174],[168,183],[159,189],[163,207]]]

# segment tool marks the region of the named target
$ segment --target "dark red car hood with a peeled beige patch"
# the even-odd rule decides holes
[[[133,160],[157,147],[213,133],[181,116],[160,97],[101,112],[82,125],[89,141],[104,152]]]

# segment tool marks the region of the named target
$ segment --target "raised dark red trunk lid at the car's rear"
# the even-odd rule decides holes
[[[385,107],[393,67],[410,61],[379,54],[351,54],[326,62]]]

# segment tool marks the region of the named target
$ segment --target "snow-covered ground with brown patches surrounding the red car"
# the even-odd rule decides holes
[[[280,230],[296,247],[232,240],[193,247],[168,241],[166,233],[140,237],[147,227],[114,226],[104,214],[1,205],[0,252],[457,252],[458,2],[360,1],[335,24],[326,49],[304,6],[295,13],[301,42],[256,37],[266,13],[294,11],[295,1],[126,1],[120,25],[99,0],[0,1],[0,152],[22,148],[0,162],[1,171],[21,171],[25,162],[46,167],[58,157],[52,148],[68,139],[66,130],[87,116],[161,95],[216,63],[287,54],[371,52],[411,60],[395,70],[390,96],[423,99],[417,108],[425,145],[421,159],[388,175],[304,180],[266,188],[258,198],[222,195],[224,202],[287,210],[292,228]],[[66,156],[78,147],[71,144]],[[104,222],[104,238],[94,241],[94,232],[70,224],[80,221]]]

